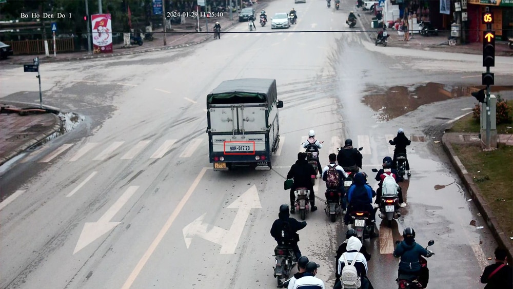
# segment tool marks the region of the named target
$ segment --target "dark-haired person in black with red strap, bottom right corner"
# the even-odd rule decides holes
[[[495,264],[484,268],[481,283],[486,284],[484,289],[512,289],[513,268],[508,265],[506,249],[495,249]]]

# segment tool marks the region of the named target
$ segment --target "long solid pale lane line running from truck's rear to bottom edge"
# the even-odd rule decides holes
[[[189,187],[189,189],[185,193],[185,195],[182,198],[182,200],[180,200],[180,203],[178,203],[176,205],[176,207],[173,210],[173,213],[171,214],[171,216],[169,216],[169,218],[167,219],[166,223],[164,224],[164,226],[160,230],[159,234],[155,237],[153,242],[151,242],[151,245],[148,247],[148,249],[144,253],[143,257],[141,257],[141,260],[139,260],[137,265],[135,265],[135,268],[133,269],[132,273],[130,273],[130,275],[128,276],[127,280],[125,281],[125,284],[123,284],[121,289],[130,289],[130,287],[132,286],[133,282],[135,281],[135,278],[137,278],[137,275],[139,275],[139,273],[141,273],[141,270],[143,269],[144,265],[146,264],[146,262],[148,262],[148,260],[150,259],[151,255],[153,254],[153,252],[155,252],[156,247],[159,246],[159,244],[162,241],[162,239],[164,239],[164,236],[168,232],[169,228],[173,224],[173,222],[176,219],[176,217],[180,214],[180,211],[182,211],[182,209],[184,208],[185,203],[187,203],[187,201],[191,197],[192,192],[196,189],[196,186],[198,186],[198,184],[200,183],[200,181],[203,178],[203,176],[205,175],[205,172],[207,171],[207,169],[210,169],[210,168],[204,167],[200,171],[200,174],[198,175],[198,177],[196,177],[194,182],[192,182],[192,185]]]

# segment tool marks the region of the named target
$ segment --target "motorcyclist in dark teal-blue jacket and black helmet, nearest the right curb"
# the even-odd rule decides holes
[[[403,231],[404,240],[393,251],[393,256],[401,257],[399,262],[398,277],[400,275],[418,276],[419,283],[425,288],[429,281],[429,270],[420,264],[420,256],[429,258],[433,253],[415,242],[415,230],[407,227]]]

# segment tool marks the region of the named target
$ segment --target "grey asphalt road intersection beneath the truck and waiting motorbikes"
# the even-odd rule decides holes
[[[495,242],[486,227],[477,228],[485,224],[426,136],[467,113],[474,99],[450,98],[384,122],[362,97],[427,82],[479,84],[481,56],[376,47],[363,32],[301,32],[349,30],[352,5],[336,11],[324,1],[295,4],[298,24],[275,33],[263,33],[269,26],[249,33],[241,23],[229,32],[245,33],[186,49],[42,65],[44,102],[86,120],[2,176],[2,190],[17,198],[0,207],[0,287],[275,287],[269,229],[279,205],[289,202],[283,176],[308,130],[325,141],[323,164],[352,138],[364,147],[363,169],[373,176],[399,127],[420,138],[408,149],[413,175],[402,184],[403,216],[365,241],[374,287],[397,286],[391,252],[406,226],[415,227],[421,244],[436,241],[429,287],[480,287]],[[275,1],[266,11],[270,18],[290,8]],[[496,85],[511,85],[511,58],[497,57],[492,70]],[[20,71],[2,67],[0,97],[38,101],[34,74]],[[214,172],[208,163],[205,97],[235,78],[277,80],[284,108],[273,170]],[[403,99],[411,97],[384,105]],[[300,248],[321,264],[318,277],[330,287],[345,226],[328,221],[323,189],[316,186],[320,209],[307,216]]]

